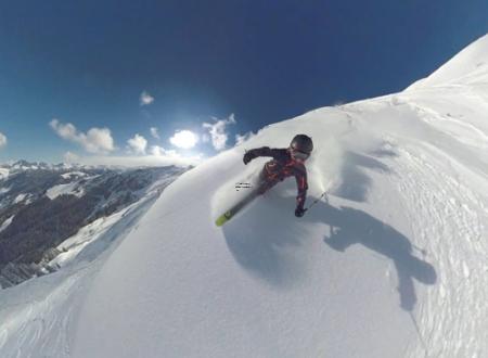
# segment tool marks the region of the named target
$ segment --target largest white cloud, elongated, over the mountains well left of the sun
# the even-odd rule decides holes
[[[84,133],[70,123],[62,124],[52,119],[49,125],[61,138],[80,144],[90,153],[107,153],[115,149],[114,139],[108,128],[93,127]]]

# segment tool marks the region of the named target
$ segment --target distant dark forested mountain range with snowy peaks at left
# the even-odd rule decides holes
[[[0,165],[0,285],[56,270],[50,261],[63,241],[101,217],[158,195],[187,169]]]

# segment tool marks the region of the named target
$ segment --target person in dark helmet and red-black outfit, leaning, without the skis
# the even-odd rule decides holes
[[[307,210],[304,208],[304,204],[308,189],[307,169],[304,163],[310,156],[312,150],[313,142],[311,138],[306,135],[297,135],[293,138],[287,149],[270,149],[269,146],[253,149],[244,154],[243,162],[247,165],[247,163],[258,156],[272,157],[270,162],[265,164],[259,175],[259,181],[262,183],[259,194],[264,194],[279,181],[294,176],[298,189],[295,216],[301,217]]]

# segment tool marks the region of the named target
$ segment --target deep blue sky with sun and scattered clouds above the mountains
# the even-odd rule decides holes
[[[488,33],[487,14],[486,0],[2,2],[0,162],[209,156],[403,89]]]

